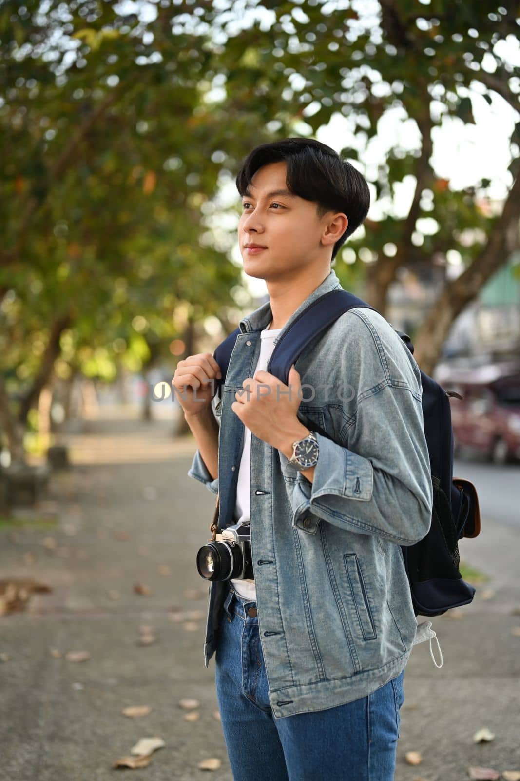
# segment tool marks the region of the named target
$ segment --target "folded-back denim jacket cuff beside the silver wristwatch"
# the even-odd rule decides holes
[[[316,432],[315,432],[316,433]],[[320,515],[327,496],[345,497],[345,520],[350,501],[370,501],[373,491],[373,466],[368,458],[343,448],[332,440],[316,433],[320,446],[320,455],[314,467],[313,482],[298,472],[292,494],[294,515],[292,525],[315,534],[320,517],[313,514],[313,505],[320,499]],[[338,503],[334,502],[334,513],[338,513]]]

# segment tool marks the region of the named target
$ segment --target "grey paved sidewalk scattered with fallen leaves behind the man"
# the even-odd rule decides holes
[[[232,781],[214,716],[214,659],[203,665],[207,585],[194,558],[214,501],[186,476],[193,440],[175,442],[164,420],[105,413],[88,427],[69,437],[74,468],[52,479],[58,525],[0,527],[2,578],[34,577],[54,589],[0,619],[0,653],[9,656],[0,662],[0,781],[112,779],[112,763],[145,736],[165,747],[134,771],[139,778],[201,779],[199,761],[214,757],[222,764],[210,778]],[[463,540],[461,555],[492,580],[462,618],[433,619],[442,669],[428,643],[412,651],[396,781],[462,781],[469,765],[520,770],[520,637],[511,633],[520,626],[518,533],[483,519],[481,537]],[[135,583],[151,594],[136,594]],[[484,589],[495,596],[484,599]],[[179,612],[188,615],[175,620]],[[139,644],[143,625],[154,644]],[[51,649],[89,651],[90,659],[70,662]],[[196,722],[183,718],[185,697],[200,701]],[[121,715],[141,704],[150,715]],[[474,744],[484,726],[495,739]],[[407,765],[407,751],[420,751],[422,765]],[[357,781],[346,771],[345,779]]]

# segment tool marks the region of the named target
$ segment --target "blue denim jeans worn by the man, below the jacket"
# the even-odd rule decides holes
[[[233,778],[394,781],[404,675],[403,670],[372,694],[336,708],[274,719],[256,603],[229,584],[215,683]]]

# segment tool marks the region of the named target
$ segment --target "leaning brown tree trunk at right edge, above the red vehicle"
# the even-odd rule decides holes
[[[426,374],[433,372],[455,318],[475,300],[483,284],[508,262],[511,253],[518,248],[518,219],[520,176],[511,187],[502,214],[480,255],[461,276],[444,287],[414,340],[414,355]]]

